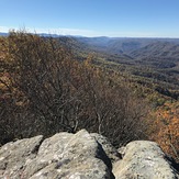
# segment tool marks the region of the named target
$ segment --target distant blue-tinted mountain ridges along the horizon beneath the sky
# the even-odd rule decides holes
[[[8,33],[0,33],[7,36]],[[131,58],[169,57],[179,58],[179,38],[145,37],[83,37],[41,33],[40,36],[59,38],[59,42],[76,51],[101,52]]]

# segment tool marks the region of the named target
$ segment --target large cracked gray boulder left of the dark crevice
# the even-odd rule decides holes
[[[41,145],[40,145],[41,144]],[[111,161],[86,130],[10,143],[0,149],[0,178],[110,179]]]

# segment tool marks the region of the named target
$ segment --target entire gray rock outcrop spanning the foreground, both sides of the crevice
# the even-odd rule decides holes
[[[86,130],[0,148],[0,179],[177,179],[172,166],[154,142],[131,142],[118,152],[104,136]]]

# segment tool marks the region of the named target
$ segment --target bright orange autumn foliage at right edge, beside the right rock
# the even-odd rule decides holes
[[[166,102],[158,108],[152,125],[154,131],[150,138],[167,154],[179,160],[179,104]]]

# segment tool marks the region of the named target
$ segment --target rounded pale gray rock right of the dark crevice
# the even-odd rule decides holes
[[[123,159],[113,166],[116,179],[177,179],[179,176],[154,142],[135,141],[122,149]]]

